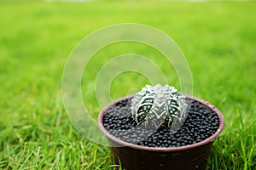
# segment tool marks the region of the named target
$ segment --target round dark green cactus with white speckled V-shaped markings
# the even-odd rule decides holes
[[[177,130],[186,117],[187,104],[183,94],[168,85],[146,85],[131,99],[131,115],[137,124]]]

